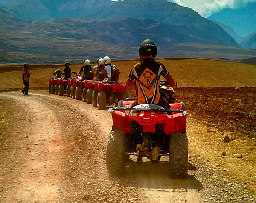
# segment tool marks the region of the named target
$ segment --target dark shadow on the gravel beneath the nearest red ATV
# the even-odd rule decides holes
[[[192,164],[189,164],[189,170],[196,170]],[[137,165],[135,161],[128,161],[125,174],[122,177],[110,177],[110,180],[119,180],[121,186],[133,186],[144,189],[166,190],[183,189],[184,192],[189,189],[200,191],[203,188],[201,182],[194,175],[187,175],[184,179],[173,179],[169,177],[168,161],[152,163],[145,161]]]

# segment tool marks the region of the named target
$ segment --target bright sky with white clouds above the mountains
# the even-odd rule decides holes
[[[113,0],[115,1],[115,0]],[[168,0],[180,6],[192,8],[203,17],[208,17],[224,8],[241,8],[256,0]]]

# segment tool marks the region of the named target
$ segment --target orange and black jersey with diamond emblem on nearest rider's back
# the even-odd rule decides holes
[[[134,65],[128,80],[134,81],[138,104],[158,104],[160,77],[168,74],[168,70],[160,62],[147,60]]]

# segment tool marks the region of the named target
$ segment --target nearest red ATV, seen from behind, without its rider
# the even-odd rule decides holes
[[[184,178],[188,170],[185,104],[170,103],[170,110],[154,104],[131,108],[132,104],[119,101],[118,107],[109,109],[113,126],[106,152],[108,173],[124,173],[130,155],[137,156],[137,164],[143,157],[158,162],[166,156],[171,177]]]

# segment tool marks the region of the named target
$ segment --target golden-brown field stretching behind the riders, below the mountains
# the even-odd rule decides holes
[[[113,61],[121,71],[120,80],[125,82],[130,69],[138,60]],[[256,67],[234,62],[206,59],[160,59],[179,87],[256,87]],[[96,63],[93,62],[92,66]],[[72,71],[79,71],[82,64],[71,64]],[[0,91],[23,87],[20,79],[22,65],[0,66]],[[56,68],[64,70],[64,65],[30,65],[31,88],[47,88],[48,79]]]

